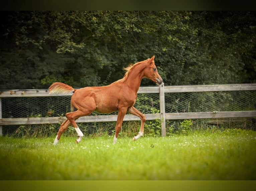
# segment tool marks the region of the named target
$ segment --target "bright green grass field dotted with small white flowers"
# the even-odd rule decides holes
[[[1,180],[256,180],[256,132],[169,137],[0,137]]]

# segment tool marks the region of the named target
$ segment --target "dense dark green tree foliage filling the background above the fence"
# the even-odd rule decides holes
[[[256,79],[256,12],[2,11],[1,18],[0,89],[107,85],[152,55],[165,85]]]

